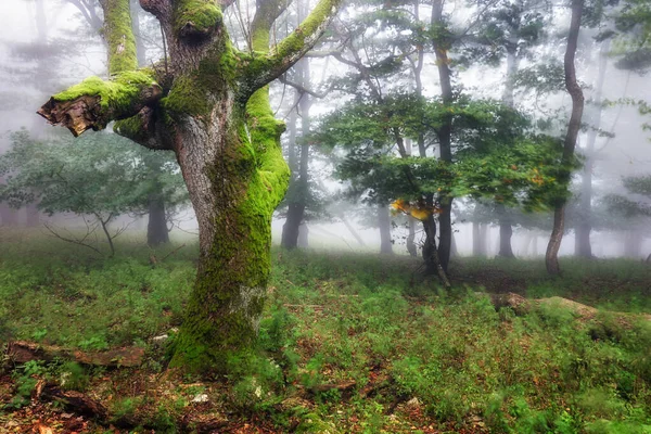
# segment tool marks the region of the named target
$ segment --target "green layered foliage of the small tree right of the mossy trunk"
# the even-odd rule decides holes
[[[451,117],[455,163],[399,155],[393,131],[413,137]],[[342,146],[336,175],[353,193],[372,202],[427,194],[492,199],[526,209],[545,208],[562,194],[556,184],[561,148],[557,140],[527,132],[528,120],[494,101],[386,98],[383,104],[352,102],[322,119],[317,140]]]

